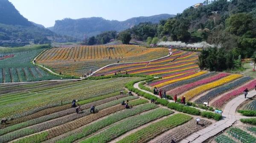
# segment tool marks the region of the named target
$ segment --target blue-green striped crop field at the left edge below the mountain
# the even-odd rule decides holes
[[[12,52],[14,57],[0,60],[0,83],[61,79],[30,63],[42,50]]]

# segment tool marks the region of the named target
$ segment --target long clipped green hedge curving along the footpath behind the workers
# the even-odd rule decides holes
[[[143,91],[138,90],[137,88],[134,88],[133,85],[137,82],[140,82],[140,80],[137,81],[130,81],[127,84],[125,84],[125,87],[128,88],[128,90],[137,93],[141,96],[144,96],[145,98],[151,100],[154,99],[155,101],[157,101],[159,104],[163,105],[163,106],[167,106],[170,109],[175,109],[179,112],[183,112],[183,113],[187,113],[187,114],[191,114],[191,115],[201,115],[203,117],[207,117],[207,118],[213,118],[217,121],[221,120],[222,116],[220,114],[216,114],[213,112],[201,112],[199,109],[193,108],[193,107],[187,107],[181,104],[177,104],[174,102],[169,102],[165,99],[161,99],[161,98],[157,98],[154,95],[145,93]]]

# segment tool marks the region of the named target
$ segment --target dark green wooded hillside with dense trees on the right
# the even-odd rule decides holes
[[[186,8],[176,17],[160,20],[158,24],[140,23],[120,34],[130,34],[126,36],[128,39],[148,44],[156,44],[159,39],[186,43],[205,41],[215,48],[201,53],[201,69],[240,68],[241,59],[256,57],[256,0],[216,0],[198,8]],[[119,35],[116,37],[122,39]],[[105,32],[104,36],[96,36],[96,42],[102,43],[111,37]]]

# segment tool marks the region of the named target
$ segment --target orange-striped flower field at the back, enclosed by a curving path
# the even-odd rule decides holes
[[[38,57],[38,63],[51,67],[57,73],[81,76],[90,70],[95,71],[118,61],[143,62],[168,54],[167,48],[144,48],[135,45],[77,46],[47,50]]]

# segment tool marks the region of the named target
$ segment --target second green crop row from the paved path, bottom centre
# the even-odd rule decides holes
[[[172,111],[170,111],[169,109],[155,109],[143,115],[137,115],[134,118],[117,123],[116,125],[111,126],[108,129],[105,129],[100,134],[93,135],[92,137],[89,137],[81,141],[81,143],[107,143],[113,140],[114,138],[125,134],[125,132],[131,131],[132,129],[136,129],[145,123],[149,123],[171,113]]]

